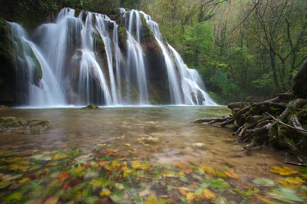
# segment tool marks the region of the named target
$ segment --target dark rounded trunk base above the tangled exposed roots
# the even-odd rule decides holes
[[[293,79],[292,93],[297,98],[307,98],[307,60],[297,71]]]

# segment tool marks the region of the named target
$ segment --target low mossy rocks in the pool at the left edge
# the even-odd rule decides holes
[[[51,130],[51,124],[48,120],[31,119],[25,121],[16,117],[2,117],[0,118],[0,133],[10,132],[15,129],[20,129],[20,134],[44,134]]]

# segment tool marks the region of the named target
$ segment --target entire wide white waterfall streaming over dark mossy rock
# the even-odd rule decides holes
[[[8,22],[15,47],[16,83],[26,84],[30,90],[18,92],[17,105],[117,106],[150,105],[151,101],[216,105],[204,91],[199,73],[184,64],[149,15],[123,8],[117,9],[117,13],[119,18],[114,19],[64,8],[54,23],[40,25],[32,36],[21,25]],[[152,33],[147,32],[147,38],[146,31]],[[149,45],[145,46],[144,40],[150,46],[156,40],[161,56],[157,53],[150,55],[153,59],[147,56]],[[149,63],[160,61],[162,64]],[[164,68],[165,72],[157,71]],[[165,93],[158,88],[148,91],[149,82],[153,88],[160,86],[155,83],[165,79],[163,74],[170,91]]]

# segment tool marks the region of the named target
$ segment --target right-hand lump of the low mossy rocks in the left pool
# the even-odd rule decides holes
[[[51,124],[48,120],[31,119],[26,122],[26,127],[27,130],[24,131],[24,134],[42,134],[49,133]]]

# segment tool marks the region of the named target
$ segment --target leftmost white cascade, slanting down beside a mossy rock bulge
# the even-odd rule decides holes
[[[21,84],[18,85],[21,86],[21,92],[28,95],[28,105],[41,107],[64,106],[65,98],[61,94],[61,90],[56,89],[56,87],[61,86],[60,81],[55,77],[52,68],[43,56],[43,50],[29,40],[27,32],[21,25],[14,22],[8,23],[17,48],[16,59],[19,69],[17,72],[21,74],[19,77],[17,76],[17,80],[20,80],[21,77],[29,78],[28,82],[21,80],[19,81]],[[37,78],[37,74],[40,71],[42,72],[41,80]],[[25,101],[20,102],[19,105],[24,105],[23,103],[25,103]]]

